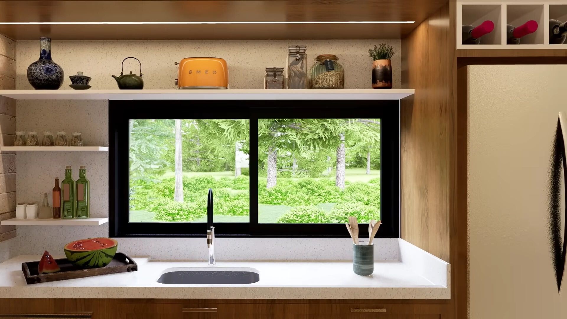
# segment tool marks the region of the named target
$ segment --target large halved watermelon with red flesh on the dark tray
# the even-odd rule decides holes
[[[98,268],[108,265],[116,254],[118,242],[112,238],[87,238],[65,245],[67,259],[77,267]]]

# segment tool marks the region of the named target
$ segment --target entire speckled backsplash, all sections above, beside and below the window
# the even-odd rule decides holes
[[[285,66],[287,46],[307,45],[310,64],[318,54],[339,57],[345,68],[345,89],[370,89],[372,61],[368,49],[388,43],[396,55],[392,60],[393,87],[400,88],[400,40],[309,40],[309,41],[53,41],[52,56],[65,71],[61,89],[70,89],[69,75],[77,71],[92,77],[92,89],[117,89],[111,74],[119,75],[120,63],[134,56],[142,62],[145,89],[175,89],[177,66],[181,58],[217,56],[229,64],[232,89],[263,89],[264,68]],[[38,41],[18,41],[16,60],[17,89],[31,89],[26,70],[39,57]],[[132,62],[133,61],[133,62]],[[134,60],[124,63],[124,71],[138,72]],[[81,131],[84,145],[108,146],[108,103],[77,100],[21,100],[17,104],[16,129],[43,131]],[[108,154],[22,152],[17,156],[18,202],[37,202],[53,188],[55,177],[64,177],[65,165],[73,166],[78,178],[79,165],[87,166],[91,181],[91,215],[108,216]],[[203,229],[205,233],[205,229]],[[47,249],[60,254],[69,241],[108,236],[103,226],[18,226],[18,237],[10,255],[38,254]],[[120,251],[132,255],[151,255],[160,259],[204,259],[205,238],[120,238]],[[349,238],[219,238],[217,258],[222,259],[349,259]],[[375,241],[376,259],[397,259],[397,240]],[[6,253],[0,246],[0,261]]]

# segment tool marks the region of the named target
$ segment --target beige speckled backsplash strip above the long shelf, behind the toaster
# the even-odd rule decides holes
[[[231,89],[264,89],[266,66],[286,66],[288,45],[307,45],[308,66],[319,54],[335,54],[345,69],[345,89],[370,89],[374,45],[392,45],[393,88],[400,89],[400,40],[302,40],[302,41],[52,41],[53,61],[65,72],[61,89],[69,89],[69,75],[84,72],[92,78],[92,89],[117,89],[112,74],[120,74],[124,58],[142,63],[144,89],[175,89],[177,66],[184,57],[221,57],[229,64]],[[18,41],[17,89],[32,89],[26,70],[39,57],[37,41]],[[139,74],[136,60],[124,62],[124,73]]]

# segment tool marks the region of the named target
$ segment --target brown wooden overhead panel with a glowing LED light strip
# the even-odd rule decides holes
[[[0,24],[15,40],[401,39],[447,0],[0,1],[2,22],[415,21],[396,24]]]

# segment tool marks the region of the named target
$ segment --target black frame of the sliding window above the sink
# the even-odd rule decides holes
[[[399,100],[109,100],[109,234],[111,237],[205,237],[206,223],[129,223],[130,119],[249,119],[250,220],[215,223],[217,237],[350,237],[342,224],[259,224],[257,119],[380,119],[380,213],[376,238],[400,237]],[[324,116],[321,116],[323,114]],[[212,116],[211,116],[212,115]],[[213,190],[214,194],[214,190]],[[359,237],[368,237],[367,224]]]

